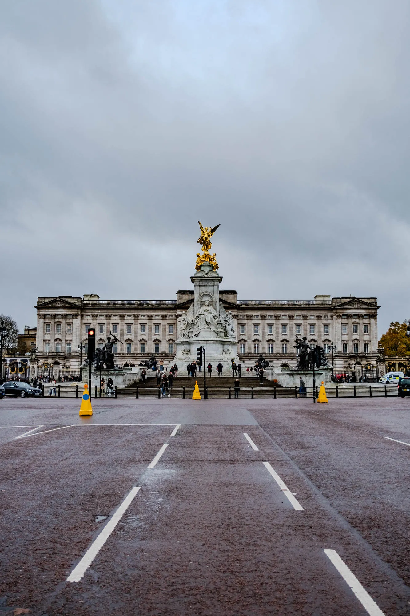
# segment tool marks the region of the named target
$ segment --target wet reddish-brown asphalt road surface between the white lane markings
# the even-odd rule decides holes
[[[93,402],[0,402],[0,614],[410,614],[410,400]]]

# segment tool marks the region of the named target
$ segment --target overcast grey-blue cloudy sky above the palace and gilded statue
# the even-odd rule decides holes
[[[410,317],[408,0],[1,0],[0,312],[239,299]]]

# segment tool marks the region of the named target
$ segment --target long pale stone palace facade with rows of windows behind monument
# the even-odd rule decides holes
[[[96,346],[103,347],[110,331],[121,341],[113,349],[119,367],[126,362],[137,365],[151,355],[163,359],[164,365],[174,362],[177,318],[191,305],[193,293],[177,291],[177,299],[169,300],[110,300],[94,294],[39,297],[38,374],[78,374],[89,327],[95,328]],[[316,295],[308,300],[259,301],[237,299],[236,291],[222,290],[219,298],[233,317],[237,354],[245,367],[254,365],[261,353],[276,367],[295,367],[296,336],[323,346],[330,361],[333,346],[337,371],[377,366],[376,298]]]

